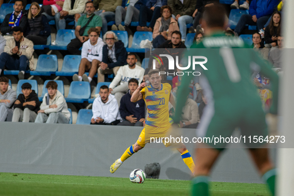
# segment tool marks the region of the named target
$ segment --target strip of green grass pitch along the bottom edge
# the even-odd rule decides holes
[[[0,173],[0,196],[190,196],[190,181]],[[211,196],[270,196],[266,185],[210,184]]]

